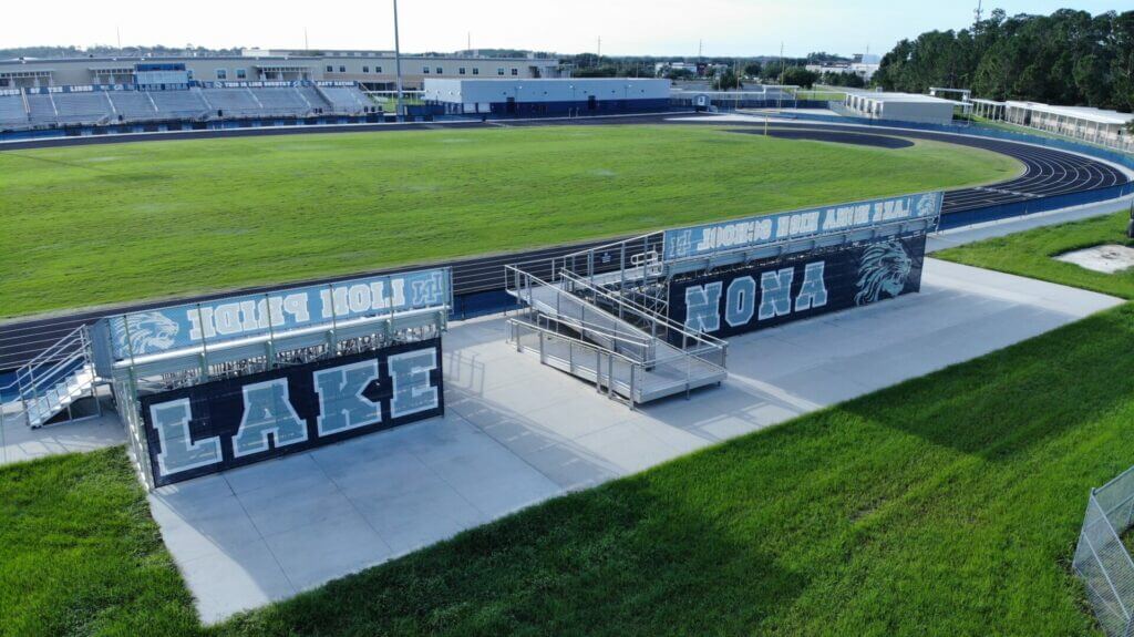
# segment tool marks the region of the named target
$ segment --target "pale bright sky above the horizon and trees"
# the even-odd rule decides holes
[[[0,48],[41,44],[185,44],[209,48],[393,49],[391,0],[83,0],[11,2]],[[177,7],[177,11],[170,11]],[[963,28],[976,0],[400,0],[404,52],[473,48],[612,56],[885,53],[903,37]],[[1100,14],[1125,0],[985,0],[985,11]],[[15,27],[15,25],[19,25]]]

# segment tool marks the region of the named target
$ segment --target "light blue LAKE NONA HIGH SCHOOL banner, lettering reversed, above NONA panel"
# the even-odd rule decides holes
[[[941,193],[921,193],[666,230],[662,255],[666,261],[708,256],[788,239],[933,219],[941,214],[942,199]]]

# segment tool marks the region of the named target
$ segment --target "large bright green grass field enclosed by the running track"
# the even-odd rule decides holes
[[[1019,165],[702,127],[303,135],[0,153],[0,316],[997,181]]]

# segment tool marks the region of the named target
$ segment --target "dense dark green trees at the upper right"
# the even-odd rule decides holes
[[[1050,16],[991,12],[971,28],[903,40],[873,83],[924,93],[972,88],[975,96],[1134,111],[1134,11],[1060,9]]]

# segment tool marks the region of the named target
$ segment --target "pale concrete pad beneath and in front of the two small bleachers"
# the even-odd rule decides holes
[[[150,501],[202,619],[214,622],[1119,303],[928,260],[922,294],[734,338],[721,388],[637,411],[517,354],[503,318],[465,322],[445,338],[446,417]]]

